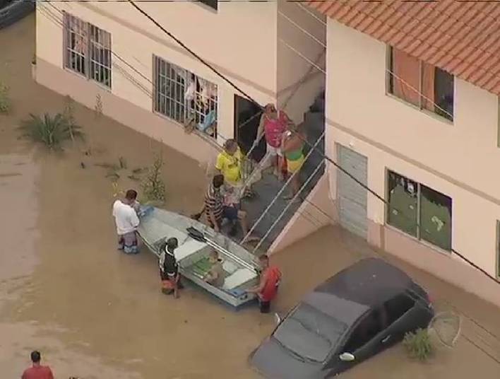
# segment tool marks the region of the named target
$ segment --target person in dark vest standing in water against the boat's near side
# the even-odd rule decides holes
[[[162,279],[162,293],[165,295],[174,294],[174,298],[179,298],[179,288],[181,276],[179,274],[179,265],[175,259],[174,251],[179,247],[177,238],[169,238],[160,249],[160,278]]]

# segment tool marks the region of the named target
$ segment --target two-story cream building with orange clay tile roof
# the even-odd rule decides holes
[[[500,304],[498,283],[459,257],[499,278],[500,6],[309,5],[328,16],[326,151],[366,185],[328,164],[311,199],[328,197],[372,245]]]

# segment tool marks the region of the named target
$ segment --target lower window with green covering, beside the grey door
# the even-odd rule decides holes
[[[451,197],[388,171],[387,223],[419,240],[451,250]]]

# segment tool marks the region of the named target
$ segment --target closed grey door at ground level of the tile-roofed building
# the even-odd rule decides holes
[[[337,152],[340,167],[367,185],[367,157],[339,144]],[[367,195],[367,189],[338,170],[337,198],[340,225],[362,238],[367,238]]]

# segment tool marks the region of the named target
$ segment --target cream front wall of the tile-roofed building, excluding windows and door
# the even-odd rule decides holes
[[[337,141],[367,156],[369,187],[383,197],[387,168],[450,196],[453,248],[496,275],[496,220],[500,219],[496,96],[456,79],[451,124],[386,95],[386,45],[331,20],[327,34],[328,154],[335,157]],[[335,199],[333,166],[329,175]],[[384,204],[371,194],[367,213],[375,224],[384,223]],[[401,251],[400,243],[388,240],[393,235],[382,242],[392,252],[415,260],[411,251]],[[377,233],[370,238],[380,243]],[[449,253],[425,248],[433,254],[422,259],[434,256],[436,264],[449,261]],[[434,267],[436,274],[439,270]]]

